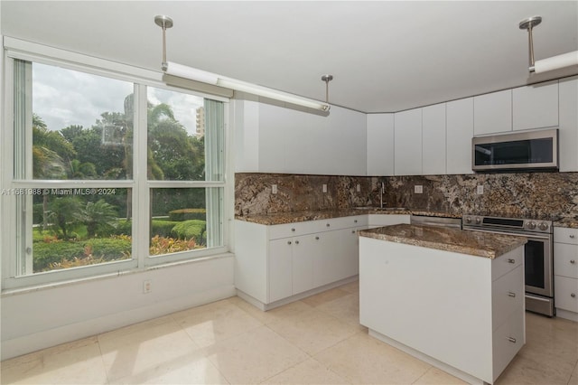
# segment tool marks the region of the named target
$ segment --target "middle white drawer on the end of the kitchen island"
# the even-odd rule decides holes
[[[517,309],[524,308],[524,278],[523,267],[499,277],[491,288],[491,318],[492,330],[504,324]]]

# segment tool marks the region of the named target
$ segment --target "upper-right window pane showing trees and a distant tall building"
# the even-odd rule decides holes
[[[205,180],[203,99],[167,89],[147,89],[148,179]]]

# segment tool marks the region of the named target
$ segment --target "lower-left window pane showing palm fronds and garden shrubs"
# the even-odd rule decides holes
[[[23,189],[22,200],[33,205],[33,273],[131,258],[130,189]]]

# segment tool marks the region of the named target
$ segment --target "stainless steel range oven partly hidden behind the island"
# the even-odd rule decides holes
[[[552,221],[477,215],[463,216],[463,230],[495,232],[527,238],[524,248],[526,310],[555,315]]]

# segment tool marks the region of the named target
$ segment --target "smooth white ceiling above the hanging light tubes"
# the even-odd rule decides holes
[[[2,1],[2,33],[160,71],[167,56],[201,70],[394,112],[527,84],[527,32],[536,60],[578,50],[577,1],[199,2]]]

